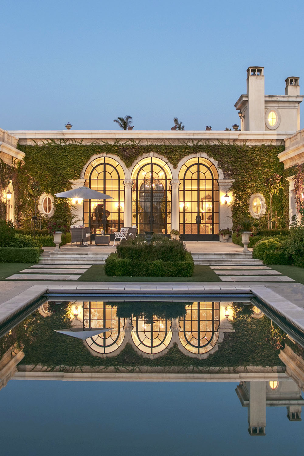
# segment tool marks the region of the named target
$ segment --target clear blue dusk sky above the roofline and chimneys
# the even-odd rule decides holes
[[[151,0],[2,0],[0,128],[231,128],[246,69],[265,93],[304,84],[304,4]],[[304,88],[301,90],[304,93]],[[303,125],[303,122],[302,122]]]

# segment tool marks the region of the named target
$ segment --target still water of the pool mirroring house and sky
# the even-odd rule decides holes
[[[302,455],[304,349],[256,303],[117,299],[0,339],[1,454]]]

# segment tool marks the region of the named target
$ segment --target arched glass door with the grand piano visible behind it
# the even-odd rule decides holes
[[[114,232],[124,226],[124,171],[113,158],[100,157],[87,167],[85,185],[112,199],[85,200],[84,218],[93,233],[103,230],[114,239]]]

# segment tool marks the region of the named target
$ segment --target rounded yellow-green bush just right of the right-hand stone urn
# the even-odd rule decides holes
[[[292,264],[282,240],[278,238],[259,241],[253,247],[252,258],[261,259],[264,264]]]

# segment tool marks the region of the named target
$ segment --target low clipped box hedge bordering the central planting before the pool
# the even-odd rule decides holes
[[[119,258],[117,253],[108,256],[104,271],[108,276],[134,277],[191,277],[194,262],[191,253],[186,252],[184,261],[164,261]]]

